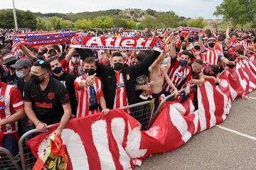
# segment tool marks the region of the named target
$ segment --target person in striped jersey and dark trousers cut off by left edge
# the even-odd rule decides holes
[[[0,134],[2,146],[15,157],[18,154],[18,120],[24,117],[21,92],[0,81]]]

